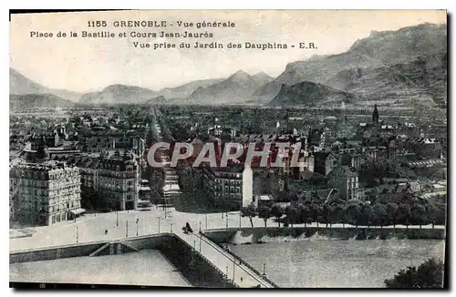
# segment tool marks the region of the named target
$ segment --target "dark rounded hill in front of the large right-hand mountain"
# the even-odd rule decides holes
[[[332,87],[304,81],[293,86],[283,85],[279,94],[272,99],[269,106],[293,107],[293,106],[312,106],[317,103],[349,103],[355,96],[344,91],[339,91]]]

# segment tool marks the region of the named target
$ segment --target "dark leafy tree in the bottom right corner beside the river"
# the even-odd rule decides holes
[[[387,288],[425,289],[443,287],[444,264],[440,260],[430,259],[420,267],[408,267],[401,270],[392,279],[385,280]]]

